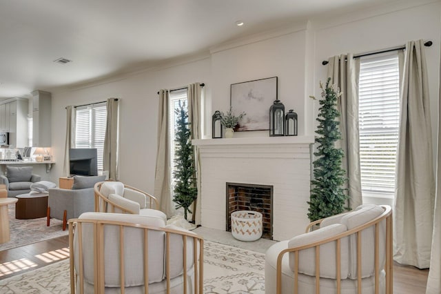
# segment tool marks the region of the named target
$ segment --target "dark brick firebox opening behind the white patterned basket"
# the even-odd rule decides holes
[[[232,213],[237,210],[252,210],[262,213],[262,237],[273,239],[273,186],[227,183],[226,200],[226,231],[232,231]]]

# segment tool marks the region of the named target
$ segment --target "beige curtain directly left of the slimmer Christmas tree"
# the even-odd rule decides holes
[[[170,158],[170,135],[168,114],[170,92],[168,90],[159,91],[158,106],[158,135],[156,149],[156,170],[154,177],[154,197],[158,199],[159,207],[167,215],[174,215],[172,206],[172,165]]]

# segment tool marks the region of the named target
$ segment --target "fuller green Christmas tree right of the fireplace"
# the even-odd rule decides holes
[[[311,180],[311,196],[309,199],[308,217],[311,222],[323,217],[329,217],[345,211],[348,196],[343,185],[346,182],[345,170],[342,169],[343,150],[336,148],[335,143],[341,138],[336,118],[340,113],[336,109],[337,99],[341,93],[329,85],[327,80],[322,89],[322,99],[317,121],[320,123],[316,130],[317,151],[314,153],[314,179]],[[314,98],[314,97],[313,97]]]

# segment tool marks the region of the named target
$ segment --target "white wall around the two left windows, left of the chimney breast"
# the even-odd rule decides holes
[[[173,68],[150,70],[105,84],[52,93],[52,155],[57,164],[52,173],[63,173],[65,106],[121,98],[120,179],[153,193],[156,163],[156,121],[158,90],[194,82],[210,85],[209,59]],[[205,89],[206,90],[206,89]]]

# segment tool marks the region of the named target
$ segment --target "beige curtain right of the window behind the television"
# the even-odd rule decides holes
[[[120,99],[106,101],[107,124],[105,126],[103,169],[108,170],[109,179],[119,180],[119,103]]]

